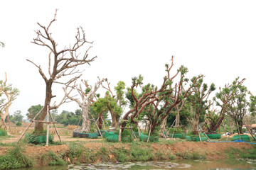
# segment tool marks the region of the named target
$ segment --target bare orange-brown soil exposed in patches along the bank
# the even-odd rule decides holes
[[[75,127],[73,127],[75,128]],[[24,127],[21,129],[24,129]],[[4,140],[1,140],[1,143],[10,143],[10,142],[16,142],[18,138],[21,136],[21,129],[16,128],[16,133],[14,132],[12,135],[13,137],[5,138]],[[53,129],[52,129],[53,130]],[[104,139],[86,139],[86,138],[73,138],[72,137],[72,128],[70,130],[59,128],[58,130],[60,132],[60,137],[63,140],[63,142],[70,142],[70,141],[84,141],[84,147],[94,149],[95,152],[100,150],[102,147],[105,147],[107,150],[111,150],[114,148],[120,148],[124,147],[124,149],[129,149],[129,144],[123,144],[123,143],[112,143],[112,145],[107,144],[107,142],[100,142]],[[58,141],[58,136],[54,136],[54,140]],[[164,140],[164,138],[161,138],[161,140]],[[175,139],[169,139],[169,140],[175,140]],[[245,143],[245,142],[220,142],[220,143],[210,143],[210,142],[181,142],[180,140],[178,142],[170,142],[166,144],[163,144],[163,142],[160,143],[151,143],[151,147],[154,149],[154,152],[161,152],[162,154],[169,155],[169,154],[182,154],[184,152],[193,153],[197,152],[199,154],[206,155],[206,158],[208,159],[222,159],[226,158],[227,155],[225,152],[229,149],[236,148],[236,149],[252,149],[252,145]],[[145,143],[145,145],[142,147],[148,147],[149,145]],[[9,147],[0,147],[0,155],[6,154]],[[55,154],[63,154],[68,151],[68,145],[55,145],[55,146],[36,146],[36,145],[28,145],[26,146],[26,154],[28,154],[29,157],[36,157],[48,153],[48,151],[53,151]],[[113,161],[116,160],[114,155],[109,155],[110,159]],[[168,158],[168,157],[167,157]],[[101,162],[101,159],[97,159],[97,162]]]

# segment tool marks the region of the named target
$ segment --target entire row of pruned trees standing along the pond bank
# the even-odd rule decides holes
[[[164,75],[160,86],[144,85],[141,75],[132,78],[132,86],[128,88],[125,87],[123,81],[119,81],[117,86],[114,86],[114,91],[107,79],[99,78],[95,86],[91,86],[85,80],[78,84],[78,79],[81,77],[79,67],[90,64],[96,58],[89,57],[88,52],[91,46],[86,47],[92,42],[85,39],[85,31],[79,27],[73,45],[64,47],[63,50],[57,50],[58,44],[50,33],[50,26],[56,21],[56,13],[48,26],[38,23],[40,29],[36,31],[36,38],[32,41],[32,43],[49,50],[47,71],[43,71],[39,64],[28,60],[36,66],[46,84],[46,98],[38,120],[44,120],[48,111],[54,113],[63,103],[75,101],[78,103],[82,115],[81,128],[76,129],[78,132],[90,132],[92,112],[97,115],[100,127],[102,127],[105,113],[109,112],[112,118],[112,128],[136,126],[139,121],[146,119],[149,122],[149,131],[152,133],[160,126],[165,128],[167,120],[171,120],[170,117],[175,115],[176,126],[181,122],[189,123],[193,134],[196,134],[200,123],[203,123],[209,133],[215,133],[225,115],[230,115],[239,128],[242,128],[243,117],[247,113],[255,113],[256,99],[255,96],[251,96],[250,101],[247,101],[247,89],[242,85],[245,79],[235,79],[233,84],[225,85],[210,100],[209,96],[215,91],[215,85],[208,86],[204,83],[203,75],[188,79],[186,77],[188,69],[183,66],[171,74],[174,69],[173,57],[171,64],[165,65],[166,75]],[[53,84],[63,85],[63,98],[59,103],[51,105],[52,98],[55,98],[52,90]],[[97,94],[100,87],[106,90],[103,97]],[[77,95],[74,95],[75,93]],[[125,111],[124,107],[127,105],[129,108]],[[213,106],[214,108],[212,108]],[[250,107],[249,110],[248,107]],[[60,115],[62,116],[62,114],[64,116],[64,113]],[[74,115],[70,115],[70,118],[78,117],[78,115],[78,113],[74,113]],[[36,123],[35,133],[42,131],[43,123]]]

